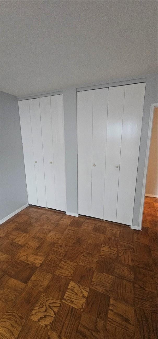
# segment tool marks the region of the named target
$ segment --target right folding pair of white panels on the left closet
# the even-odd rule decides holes
[[[39,101],[47,207],[66,211],[63,95]]]

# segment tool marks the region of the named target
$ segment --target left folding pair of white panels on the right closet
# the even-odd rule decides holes
[[[103,218],[108,88],[78,92],[78,213]]]

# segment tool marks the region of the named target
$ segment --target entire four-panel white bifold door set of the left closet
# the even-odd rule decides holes
[[[19,101],[29,204],[66,210],[63,95]]]

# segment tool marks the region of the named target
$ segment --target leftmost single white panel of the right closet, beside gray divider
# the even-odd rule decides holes
[[[78,92],[78,213],[91,216],[93,91]]]

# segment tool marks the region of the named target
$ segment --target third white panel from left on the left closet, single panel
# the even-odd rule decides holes
[[[56,208],[51,99],[50,97],[41,97],[39,98],[39,103],[43,143],[46,204],[48,208]]]

